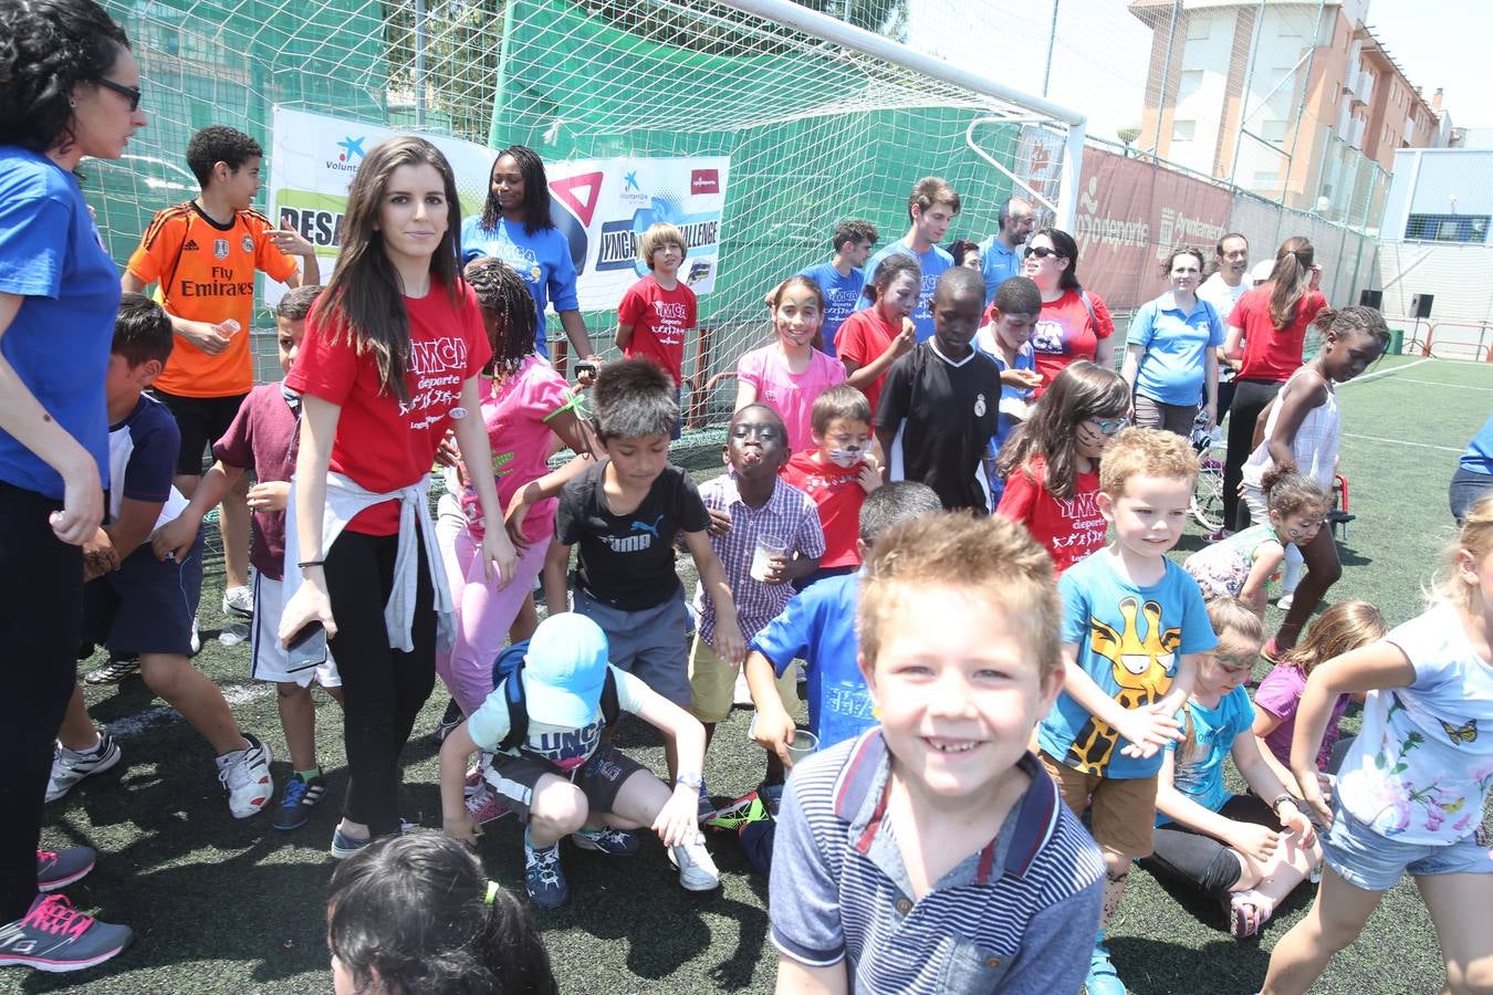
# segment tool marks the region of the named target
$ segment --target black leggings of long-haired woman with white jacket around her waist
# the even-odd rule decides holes
[[[342,814],[373,835],[399,832],[399,753],[436,685],[436,613],[424,543],[415,597],[414,650],[391,649],[384,604],[394,583],[397,536],[343,531],[327,550],[327,594],[337,634],[328,641],[342,674],[348,794]],[[34,874],[34,868],[33,868]]]

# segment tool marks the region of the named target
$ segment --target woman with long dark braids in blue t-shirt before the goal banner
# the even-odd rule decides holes
[[[549,181],[539,154],[523,145],[503,149],[488,176],[482,215],[461,222],[461,261],[491,255],[508,263],[529,283],[539,316],[534,348],[549,358],[545,307],[554,304],[576,358],[594,361],[575,295],[570,242],[549,216]]]

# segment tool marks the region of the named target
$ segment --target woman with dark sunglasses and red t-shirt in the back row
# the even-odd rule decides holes
[[[1075,360],[1091,360],[1114,368],[1115,322],[1097,294],[1078,282],[1078,245],[1059,228],[1039,228],[1026,245],[1021,274],[1042,291],[1042,315],[1032,330],[1032,351],[1042,383],[1041,397],[1053,379]],[[987,318],[988,321],[988,318]]]

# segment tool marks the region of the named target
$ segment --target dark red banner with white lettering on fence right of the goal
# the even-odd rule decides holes
[[[1166,254],[1196,246],[1212,257],[1233,197],[1153,161],[1084,149],[1078,181],[1078,280],[1111,310],[1135,310],[1166,289]]]

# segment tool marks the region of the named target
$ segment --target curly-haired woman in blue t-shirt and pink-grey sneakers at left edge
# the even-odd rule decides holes
[[[93,870],[37,847],[52,743],[73,692],[84,559],[103,519],[119,276],[73,170],[137,128],[130,40],[93,0],[0,7],[0,967],[75,971],[125,926],[46,894]]]

